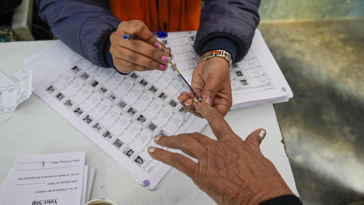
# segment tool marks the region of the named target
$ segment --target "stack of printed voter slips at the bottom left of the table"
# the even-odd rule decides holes
[[[1,204],[80,204],[90,199],[95,168],[85,152],[20,155],[0,187]]]

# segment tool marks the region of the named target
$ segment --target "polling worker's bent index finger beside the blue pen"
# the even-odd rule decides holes
[[[121,27],[123,32],[127,34],[137,34],[140,39],[152,46],[155,45],[155,42],[159,43],[157,38],[153,35],[153,33],[149,30],[144,22],[140,20],[131,20],[128,22],[124,22],[124,24],[127,25]],[[160,46],[159,49],[162,49],[162,46]]]

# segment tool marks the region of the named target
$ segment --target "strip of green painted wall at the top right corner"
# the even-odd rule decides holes
[[[364,17],[364,0],[262,0],[262,22]]]

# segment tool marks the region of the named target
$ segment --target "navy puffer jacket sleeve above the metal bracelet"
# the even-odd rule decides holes
[[[200,26],[194,42],[195,51],[222,49],[240,61],[252,44],[260,18],[261,0],[205,0]]]

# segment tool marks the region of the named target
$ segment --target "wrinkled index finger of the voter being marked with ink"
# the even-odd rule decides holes
[[[205,101],[198,101],[196,98],[193,99],[193,104],[201,115],[209,122],[211,130],[217,140],[221,140],[224,136],[233,133],[229,124],[227,124],[224,117],[216,108],[211,107],[211,105]]]

